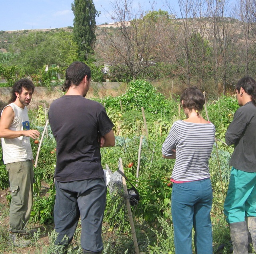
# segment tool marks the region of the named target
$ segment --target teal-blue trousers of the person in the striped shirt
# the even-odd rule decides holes
[[[174,183],[172,222],[176,254],[192,254],[192,226],[196,254],[212,254],[212,184],[210,179]]]

